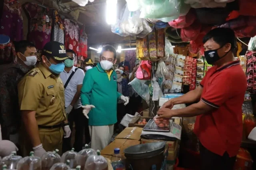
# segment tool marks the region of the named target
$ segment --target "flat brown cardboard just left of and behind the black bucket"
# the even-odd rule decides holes
[[[128,147],[139,145],[140,141],[132,140],[132,139],[115,139],[112,143],[106,146],[104,149],[101,150],[101,154],[105,156],[113,156],[114,149],[119,148],[120,154],[124,158],[124,150]]]

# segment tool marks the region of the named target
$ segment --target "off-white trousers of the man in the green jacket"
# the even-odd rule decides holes
[[[89,126],[91,136],[91,148],[94,150],[102,150],[111,141],[114,133],[114,125],[106,126]]]

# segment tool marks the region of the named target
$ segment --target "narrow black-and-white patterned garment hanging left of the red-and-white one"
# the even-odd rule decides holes
[[[54,10],[54,28],[53,28],[53,41],[58,41],[59,43],[64,44],[64,27],[59,13]]]

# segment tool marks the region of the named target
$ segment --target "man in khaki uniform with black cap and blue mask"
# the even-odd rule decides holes
[[[59,77],[67,59],[64,44],[51,41],[44,46],[42,61],[18,84],[22,113],[23,156],[33,149],[41,157],[46,151],[62,149],[62,137],[71,134],[66,119],[64,85]]]

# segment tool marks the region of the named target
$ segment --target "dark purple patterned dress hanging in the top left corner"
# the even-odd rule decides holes
[[[0,20],[0,34],[8,35],[12,41],[23,39],[21,8],[17,0],[4,0]]]

